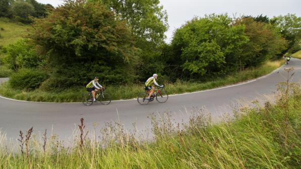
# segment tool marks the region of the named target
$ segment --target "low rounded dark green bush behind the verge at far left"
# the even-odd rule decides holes
[[[13,73],[9,79],[11,88],[33,90],[40,87],[41,83],[48,78],[48,74],[41,70],[22,68]]]

